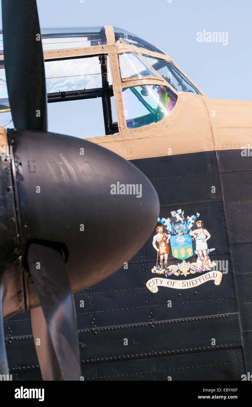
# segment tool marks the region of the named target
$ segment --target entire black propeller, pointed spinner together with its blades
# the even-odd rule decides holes
[[[149,180],[120,156],[80,138],[47,132],[36,1],[2,0],[2,20],[15,129],[7,131],[11,173],[1,157],[0,190],[6,191],[8,175],[16,232],[8,229],[5,192],[0,226],[9,231],[9,240],[0,237],[0,373],[8,374],[2,302],[8,307],[9,291],[2,276],[22,256],[26,308],[43,380],[80,380],[72,293],[103,280],[138,252],[155,227],[159,200]],[[113,184],[142,192],[114,195]]]

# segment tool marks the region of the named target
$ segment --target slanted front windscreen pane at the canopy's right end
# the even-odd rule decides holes
[[[191,92],[201,95],[200,91],[173,65],[164,59],[142,55],[147,62],[161,75],[177,92]]]

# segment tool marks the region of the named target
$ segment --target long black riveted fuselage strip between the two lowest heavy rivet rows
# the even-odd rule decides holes
[[[86,363],[241,346],[235,313],[81,330],[79,341]]]

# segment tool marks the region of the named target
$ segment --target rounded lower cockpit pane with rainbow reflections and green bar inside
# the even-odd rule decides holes
[[[168,116],[177,95],[162,85],[142,85],[123,89],[123,104],[128,129],[157,123]]]

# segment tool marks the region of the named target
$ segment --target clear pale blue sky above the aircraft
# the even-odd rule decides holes
[[[37,0],[37,5],[41,27],[124,28],[162,49],[210,98],[252,100],[252,0],[168,1]],[[197,42],[203,30],[228,32],[228,45]]]

